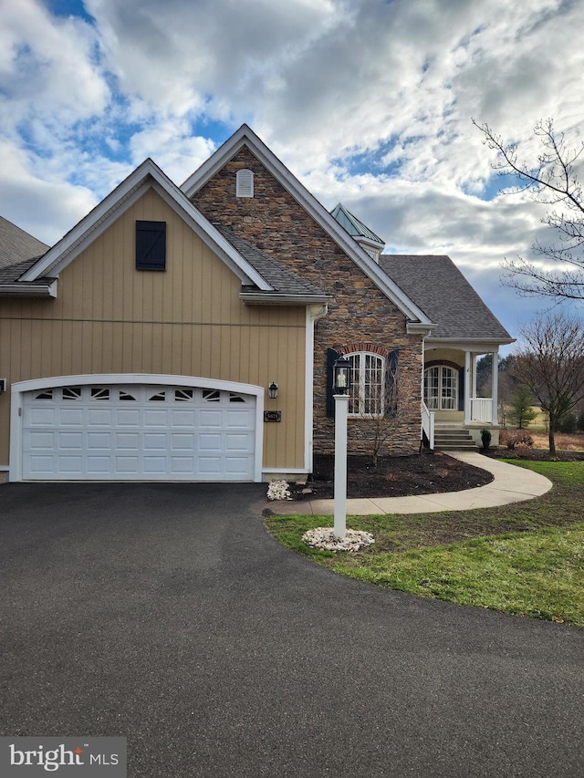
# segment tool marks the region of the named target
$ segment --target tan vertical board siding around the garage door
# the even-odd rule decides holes
[[[167,223],[165,272],[135,269],[136,220]],[[239,278],[150,190],[58,278],[57,299],[0,301],[8,384],[90,373],[276,380],[280,423],[264,425],[265,468],[304,467],[306,311],[245,306]],[[9,393],[0,425],[9,428]],[[8,463],[8,441],[0,464]]]

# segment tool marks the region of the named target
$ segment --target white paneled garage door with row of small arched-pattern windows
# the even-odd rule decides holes
[[[253,481],[255,397],[220,389],[70,386],[26,392],[23,477]]]

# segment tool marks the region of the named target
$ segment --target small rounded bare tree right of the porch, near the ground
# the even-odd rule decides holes
[[[549,417],[549,452],[556,452],[561,417],[584,399],[584,324],[556,314],[538,317],[520,330],[513,372],[531,389]]]

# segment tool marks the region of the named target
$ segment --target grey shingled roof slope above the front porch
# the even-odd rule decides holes
[[[380,265],[437,322],[429,339],[513,342],[449,256],[381,254]]]

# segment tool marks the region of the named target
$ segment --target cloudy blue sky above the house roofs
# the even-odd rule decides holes
[[[247,122],[516,334],[545,304],[501,263],[550,235],[471,119],[528,159],[538,119],[578,146],[583,33],[581,0],[0,0],[0,213],[53,244],[146,157],[181,184]]]

